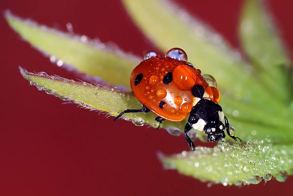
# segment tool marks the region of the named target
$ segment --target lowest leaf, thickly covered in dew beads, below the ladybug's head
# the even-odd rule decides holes
[[[220,142],[214,148],[196,147],[193,152],[159,157],[166,168],[203,182],[258,184],[262,178],[269,181],[272,176],[283,182],[293,173],[292,149],[293,145],[273,145],[269,140],[231,145]]]

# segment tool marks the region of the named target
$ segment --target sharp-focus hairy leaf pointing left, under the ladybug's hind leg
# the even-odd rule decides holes
[[[133,93],[122,92],[115,88],[110,89],[96,86],[86,82],[76,82],[59,76],[49,76],[45,72],[35,74],[21,67],[19,69],[22,76],[39,90],[44,90],[47,94],[57,96],[65,101],[77,103],[91,110],[100,110],[101,112],[107,112],[109,115],[117,116],[126,109],[142,108],[142,104],[135,98]],[[155,121],[155,118],[156,115],[152,112],[123,115],[123,119],[133,119],[132,122],[137,126],[149,124],[157,128],[159,123]],[[162,123],[161,127],[165,128],[169,133],[178,136],[183,133],[182,130],[185,124],[186,121],[181,123],[166,121]],[[189,133],[192,138],[195,138],[197,134],[195,130]],[[203,135],[204,133],[199,133],[198,137],[204,140]]]

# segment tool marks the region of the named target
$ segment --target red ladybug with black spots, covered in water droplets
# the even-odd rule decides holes
[[[187,55],[182,49],[172,48],[165,56],[146,53],[144,61],[131,73],[130,86],[143,107],[127,109],[114,121],[125,113],[135,112],[151,111],[158,116],[155,120],[159,123],[164,120],[180,122],[189,115],[184,136],[191,150],[195,146],[187,133],[192,128],[205,131],[208,142],[225,138],[225,130],[237,141],[238,137],[230,134],[228,119],[218,104],[221,95],[215,79],[208,74],[201,75],[199,69],[187,62]]]

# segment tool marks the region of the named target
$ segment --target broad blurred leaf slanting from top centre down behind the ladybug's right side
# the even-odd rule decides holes
[[[256,139],[269,135],[276,142],[283,142],[283,138],[292,141],[288,136],[293,128],[292,111],[278,99],[278,94],[265,88],[269,75],[262,80],[221,36],[170,1],[150,0],[151,6],[135,0],[123,0],[123,3],[137,26],[156,46],[163,51],[183,48],[195,67],[215,76],[217,86],[222,89],[220,104],[230,123],[235,125],[237,136]],[[280,133],[278,136],[275,130]],[[252,131],[257,134],[251,136]]]

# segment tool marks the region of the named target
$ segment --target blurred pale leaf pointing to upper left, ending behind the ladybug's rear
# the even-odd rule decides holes
[[[98,40],[89,40],[85,36],[60,32],[31,20],[22,20],[9,12],[5,16],[11,28],[23,39],[50,55],[53,60],[59,60],[58,66],[67,64],[89,76],[98,76],[113,85],[130,89],[130,74],[141,61],[140,58],[118,48],[111,48]]]

